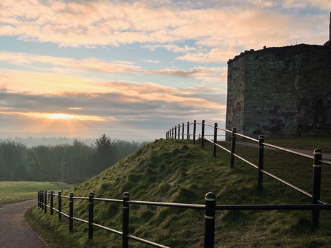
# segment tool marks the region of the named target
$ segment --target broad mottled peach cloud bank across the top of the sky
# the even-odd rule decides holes
[[[176,3],[158,6],[152,1],[8,0],[0,10],[0,35],[72,47],[141,43],[149,49],[157,48],[152,45],[164,45],[163,48],[172,52],[183,49],[192,52],[190,47],[179,49],[174,43],[194,40],[196,45],[213,48],[241,45],[257,49],[261,43],[285,45],[294,38],[306,40],[310,30],[314,30],[312,23],[317,23],[319,17],[303,19],[302,25],[297,22],[298,16],[285,14],[282,8],[331,8],[330,1],[323,0],[289,0],[277,4],[261,0],[233,1],[223,7],[215,1],[213,5],[217,8],[214,9],[203,8],[199,1],[194,5],[199,3],[201,9],[188,9],[180,3],[178,8]],[[301,35],[293,37],[290,31],[298,27]]]

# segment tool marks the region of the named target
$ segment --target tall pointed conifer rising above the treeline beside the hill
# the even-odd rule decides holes
[[[108,138],[106,134],[97,138],[97,141],[92,144],[92,160],[98,173],[116,163],[115,154],[116,147],[111,138]]]

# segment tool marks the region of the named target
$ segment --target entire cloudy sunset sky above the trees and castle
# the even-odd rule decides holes
[[[225,127],[227,61],[329,39],[330,0],[0,0],[0,138]]]

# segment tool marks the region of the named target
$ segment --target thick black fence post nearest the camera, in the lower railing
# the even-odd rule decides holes
[[[216,196],[209,192],[205,194],[205,243],[204,248],[214,248],[215,240],[215,209]]]

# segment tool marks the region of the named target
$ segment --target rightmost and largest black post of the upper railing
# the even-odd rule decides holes
[[[321,195],[321,160],[322,151],[321,149],[314,149],[314,161],[313,161],[313,171],[312,171],[312,203],[318,204]],[[312,227],[319,227],[319,209],[312,210]]]

